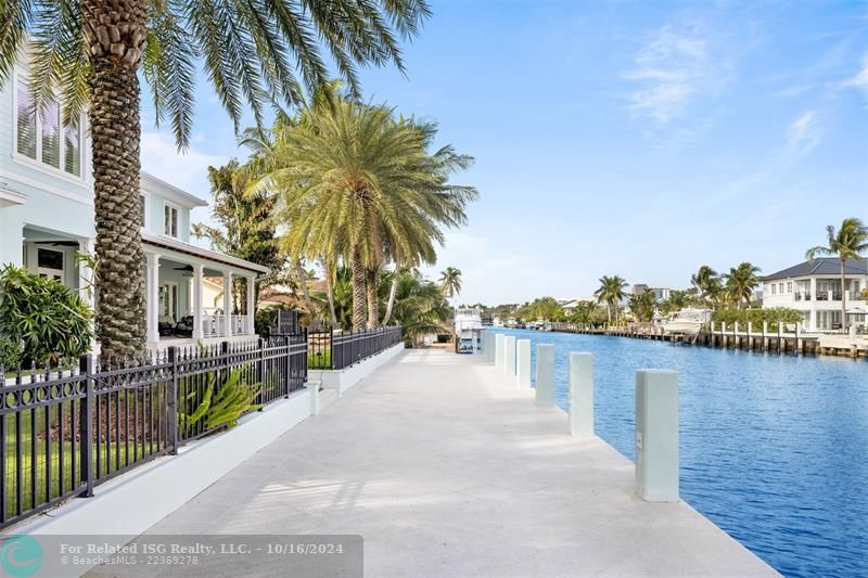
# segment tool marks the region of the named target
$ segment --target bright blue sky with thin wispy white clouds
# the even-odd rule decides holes
[[[460,268],[461,301],[583,297],[602,274],[682,287],[703,264],[770,273],[827,224],[868,220],[866,2],[432,7],[407,76],[361,78],[476,157],[456,180],[481,200],[431,271]],[[245,153],[199,93],[186,156],[145,107],[142,160],[207,196],[208,164]]]

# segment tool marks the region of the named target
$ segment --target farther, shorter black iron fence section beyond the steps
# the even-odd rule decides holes
[[[310,369],[342,370],[401,341],[400,327],[319,331],[307,334]]]

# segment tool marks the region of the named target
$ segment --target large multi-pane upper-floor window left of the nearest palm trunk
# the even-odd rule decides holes
[[[47,167],[81,177],[84,141],[81,121],[62,123],[62,108],[49,101],[39,114],[34,112],[30,89],[20,79],[15,84],[15,151],[22,157]]]

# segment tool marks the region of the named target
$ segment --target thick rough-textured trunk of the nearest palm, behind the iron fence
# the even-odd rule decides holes
[[[97,327],[101,355],[110,359],[142,354],[146,339],[136,74],[144,48],[146,0],[82,0],[81,20],[91,66]]]

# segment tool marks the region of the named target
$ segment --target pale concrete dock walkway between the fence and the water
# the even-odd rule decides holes
[[[410,350],[149,534],[360,534],[365,575],[775,576],[481,356]]]

